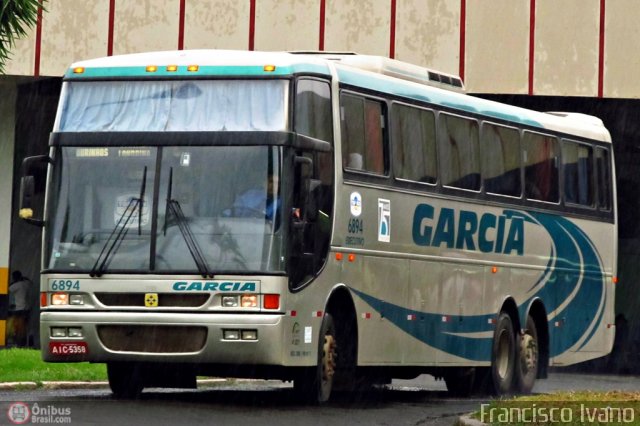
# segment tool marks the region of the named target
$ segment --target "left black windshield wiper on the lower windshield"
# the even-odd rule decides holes
[[[129,200],[129,204],[118,218],[118,222],[116,222],[116,225],[113,227],[113,230],[111,231],[111,234],[109,234],[107,241],[105,241],[104,246],[102,246],[102,250],[100,250],[100,254],[96,259],[96,263],[93,264],[93,268],[91,268],[89,276],[101,277],[107,270],[109,259],[113,254],[115,254],[118,248],[120,248],[120,244],[122,244],[124,237],[129,232],[127,225],[129,225],[129,222],[136,211],[138,211],[138,235],[142,234],[142,208],[144,207],[144,193],[146,187],[147,166],[144,166],[144,171],[142,172],[142,184],[140,185],[140,197],[131,198]],[[109,248],[107,249],[107,247]],[[102,261],[100,261],[101,259]]]

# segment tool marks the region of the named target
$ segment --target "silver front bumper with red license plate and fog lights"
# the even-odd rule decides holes
[[[282,315],[42,312],[48,362],[282,365]]]

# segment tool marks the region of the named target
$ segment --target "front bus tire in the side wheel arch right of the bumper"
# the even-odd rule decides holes
[[[329,400],[337,357],[338,345],[333,317],[325,314],[320,327],[317,365],[305,368],[293,381],[294,391],[304,402],[322,404]]]

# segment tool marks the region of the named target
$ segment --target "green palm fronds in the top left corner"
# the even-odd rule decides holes
[[[46,0],[0,0],[0,73],[15,41],[36,25],[38,8]]]

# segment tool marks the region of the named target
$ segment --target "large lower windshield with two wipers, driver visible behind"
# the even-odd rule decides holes
[[[62,147],[46,266],[282,272],[281,163],[267,146]]]

